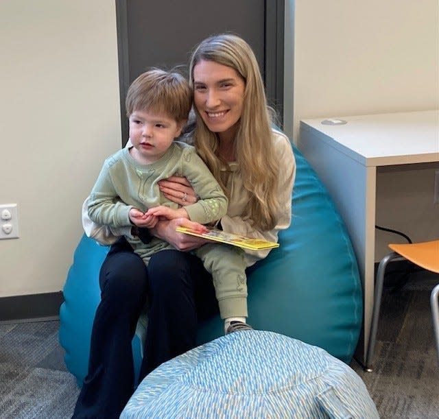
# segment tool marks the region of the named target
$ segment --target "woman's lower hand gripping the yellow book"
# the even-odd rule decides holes
[[[202,226],[202,224],[191,222],[186,218],[176,218],[159,221],[156,226],[151,229],[151,232],[154,236],[167,241],[169,244],[183,252],[198,249],[200,246],[208,242],[208,240],[201,239],[200,237],[185,235],[185,233],[176,231],[176,228],[180,226],[193,228],[200,232],[206,230],[206,227]]]

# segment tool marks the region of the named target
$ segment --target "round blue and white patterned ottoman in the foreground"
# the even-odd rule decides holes
[[[360,377],[317,346],[266,331],[219,337],[145,377],[134,418],[379,418]]]

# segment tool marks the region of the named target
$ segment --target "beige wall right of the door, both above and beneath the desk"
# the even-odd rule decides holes
[[[437,0],[287,0],[286,10],[284,121],[296,143],[300,119],[439,108]],[[377,183],[377,224],[439,237],[434,167],[380,172]],[[377,232],[377,260],[395,239]]]

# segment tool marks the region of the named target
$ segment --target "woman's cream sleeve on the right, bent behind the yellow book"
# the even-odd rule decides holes
[[[230,217],[224,215],[221,219],[222,229],[226,232],[233,232],[246,237],[278,241],[279,230],[289,227],[292,217],[292,189],[296,178],[296,160],[292,152],[289,139],[284,134],[275,132],[274,148],[279,162],[279,178],[276,193],[278,194],[279,208],[276,216],[276,226],[272,230],[255,230],[250,219],[243,219],[239,216]],[[259,259],[265,258],[270,250],[246,251],[247,265],[250,266]]]

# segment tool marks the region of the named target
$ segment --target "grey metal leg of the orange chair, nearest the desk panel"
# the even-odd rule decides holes
[[[383,294],[385,268],[387,267],[388,263],[390,261],[393,261],[394,259],[404,258],[402,258],[400,254],[392,252],[384,256],[378,265],[377,280],[375,281],[375,298],[373,303],[372,324],[370,324],[368,351],[366,354],[366,363],[364,366],[364,370],[367,372],[372,371],[372,361],[375,350],[375,343],[377,341],[379,310],[381,309],[381,295]]]

